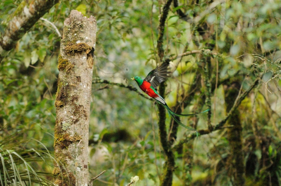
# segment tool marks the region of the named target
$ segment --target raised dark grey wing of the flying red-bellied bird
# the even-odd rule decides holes
[[[159,67],[148,73],[145,77],[145,81],[150,82],[153,88],[156,88],[162,81],[165,81],[169,76],[168,66],[170,62],[162,63]]]

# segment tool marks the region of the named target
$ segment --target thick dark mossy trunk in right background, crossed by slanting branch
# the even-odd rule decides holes
[[[226,111],[234,105],[235,98],[239,94],[240,81],[233,81],[225,90]],[[228,123],[233,126],[228,129],[228,141],[230,146],[230,155],[227,160],[227,169],[229,174],[234,177],[234,186],[245,185],[245,165],[243,154],[242,125],[240,122],[239,110],[235,109],[229,117]]]

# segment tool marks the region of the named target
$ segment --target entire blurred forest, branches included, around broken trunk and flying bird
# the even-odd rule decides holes
[[[0,2],[0,185],[52,185],[71,10],[96,17],[89,179],[106,172],[93,185],[133,176],[138,186],[281,185],[280,1],[44,1],[16,30],[13,20],[24,23],[24,7],[38,2]],[[198,137],[131,80],[165,61],[172,75],[157,91],[167,105],[179,114],[210,108],[177,118]]]

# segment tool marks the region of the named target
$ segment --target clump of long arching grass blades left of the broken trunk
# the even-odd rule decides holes
[[[5,128],[1,128],[5,131]],[[1,134],[0,183],[1,185],[52,185],[50,172],[55,159],[46,146],[36,139],[24,140],[31,130]],[[37,150],[36,150],[37,149]]]

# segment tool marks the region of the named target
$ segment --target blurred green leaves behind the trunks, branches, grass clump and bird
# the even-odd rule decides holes
[[[2,33],[9,15],[20,2],[0,2]],[[216,2],[217,6],[212,7]],[[164,3],[161,0],[61,1],[43,18],[54,23],[62,34],[63,21],[72,9],[84,16],[95,16],[95,76],[137,87],[130,78],[145,77],[156,67],[157,27]],[[219,81],[211,93],[211,124],[226,116],[227,84],[238,81],[245,91],[255,79],[261,79],[262,83],[239,106],[246,185],[281,185],[280,8],[280,1],[180,1],[179,7],[170,7],[165,24],[166,57],[198,49],[217,53],[211,56],[209,69],[212,86],[216,73]],[[179,10],[186,17],[180,17]],[[46,150],[41,144],[21,143],[31,139],[53,150],[59,50],[60,36],[48,22],[39,20],[1,63],[0,141],[21,133],[13,142],[0,143],[2,156],[6,149]],[[190,87],[197,74],[205,76],[204,60],[208,56],[193,54],[173,61],[174,67],[178,62],[179,65],[167,81],[165,100],[170,107],[176,105],[181,94],[192,91]],[[208,93],[203,80],[200,91],[191,98],[184,113],[207,108],[206,104],[203,108],[199,104],[201,97]],[[182,119],[189,125],[198,119],[197,129],[207,128],[207,114]],[[106,170],[95,180],[95,185],[125,185],[135,175],[140,177],[137,185],[160,183],[165,156],[157,122],[154,102],[126,88],[93,84],[90,177]],[[169,123],[170,119],[166,119],[167,126]],[[179,128],[177,140],[192,133]],[[227,128],[190,140],[184,151],[174,151],[173,185],[233,185],[233,172],[227,161],[230,147]],[[190,164],[185,161],[187,154],[191,154]],[[33,166],[51,173],[52,163],[48,164],[33,162]]]

